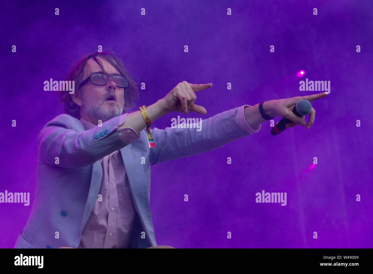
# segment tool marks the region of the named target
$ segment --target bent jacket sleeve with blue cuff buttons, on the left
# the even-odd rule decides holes
[[[78,119],[68,114],[60,114],[40,131],[38,161],[65,168],[94,164],[104,156],[129,144],[119,137],[117,127],[120,117],[116,116],[102,123],[102,126],[84,130],[82,125],[79,125]],[[77,130],[79,126],[80,129]],[[133,138],[133,132],[129,134],[132,134]],[[137,136],[136,139],[140,138],[140,135]]]

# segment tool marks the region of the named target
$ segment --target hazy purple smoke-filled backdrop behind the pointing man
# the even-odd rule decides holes
[[[98,45],[119,53],[135,80],[146,83],[145,90],[138,85],[138,106],[182,81],[213,83],[195,102],[206,115],[170,113],[152,124],[162,129],[178,115],[207,119],[244,104],[319,93],[299,90],[305,78],[330,81],[330,94],[312,102],[309,130],[296,126],[272,136],[267,121],[222,148],[151,166],[158,245],[371,248],[373,3],[353,2],[4,2],[0,192],[30,192],[30,205],[0,204],[0,248],[13,248],[31,211],[39,132],[64,113],[43,82],[63,80]],[[314,157],[318,163],[308,171]],[[287,205],[256,203],[262,190],[286,192]]]

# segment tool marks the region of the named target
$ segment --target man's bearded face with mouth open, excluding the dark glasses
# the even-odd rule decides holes
[[[97,57],[109,74],[120,74],[115,67],[105,59]],[[90,76],[92,72],[100,72],[101,67],[92,58],[87,61],[84,67],[83,79]],[[122,114],[124,107],[124,88],[118,88],[112,79],[108,79],[106,85],[97,86],[88,81],[82,86],[81,98],[73,97],[73,101],[79,105],[80,115],[88,122],[97,125],[98,120],[103,122]],[[107,100],[110,95],[115,96],[115,100]]]

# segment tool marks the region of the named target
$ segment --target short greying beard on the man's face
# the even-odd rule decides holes
[[[105,95],[105,98],[106,97],[107,95]],[[106,122],[107,120],[121,115],[123,112],[124,102],[122,107],[120,107],[119,104],[109,104],[109,106],[105,107],[105,98],[102,99],[102,102],[99,105],[93,105],[89,100],[87,100],[87,97],[85,97],[85,92],[82,92],[82,101],[85,113],[96,118],[97,120],[102,120],[102,122]]]

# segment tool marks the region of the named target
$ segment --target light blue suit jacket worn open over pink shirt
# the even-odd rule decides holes
[[[80,120],[60,114],[40,132],[35,198],[14,248],[77,248],[100,189],[100,159],[118,149],[137,213],[129,248],[156,246],[149,205],[150,165],[212,151],[251,135],[254,131],[248,134],[238,125],[237,110],[202,120],[201,131],[154,127],[154,148],[148,146],[145,129],[140,132],[141,138],[132,143],[120,139],[116,130],[120,116],[102,123],[102,127],[84,130]],[[141,164],[142,157],[146,164]],[[141,232],[145,232],[145,239]]]

